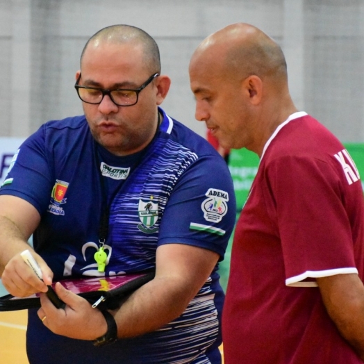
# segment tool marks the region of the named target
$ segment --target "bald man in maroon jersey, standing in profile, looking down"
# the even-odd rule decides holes
[[[196,118],[260,157],[236,226],[226,364],[363,363],[364,201],[345,147],[288,91],[281,48],[226,26],[192,56]]]

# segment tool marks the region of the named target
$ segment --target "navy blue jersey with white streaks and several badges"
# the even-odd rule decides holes
[[[158,245],[169,243],[203,247],[220,254],[220,260],[224,257],[235,222],[229,169],[204,138],[160,113],[163,121],[156,137],[132,156],[114,156],[94,142],[84,116],[47,122],[15,154],[0,195],[25,199],[40,213],[33,245],[53,270],[54,280],[154,269]],[[94,253],[104,210],[109,213],[104,243],[108,258],[101,273]],[[31,311],[29,359],[219,363],[211,349],[221,342],[224,295],[218,277],[216,267],[181,317],[106,349],[51,333]]]

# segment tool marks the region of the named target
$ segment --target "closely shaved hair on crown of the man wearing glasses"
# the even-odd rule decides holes
[[[158,72],[160,74],[160,54],[156,41],[151,36],[135,26],[118,24],[107,26],[101,29],[88,40],[81,53],[81,68],[82,60],[85,51],[89,47],[97,47],[98,44],[133,44],[142,47],[145,66],[150,73]],[[122,54],[120,54],[122,56]]]

